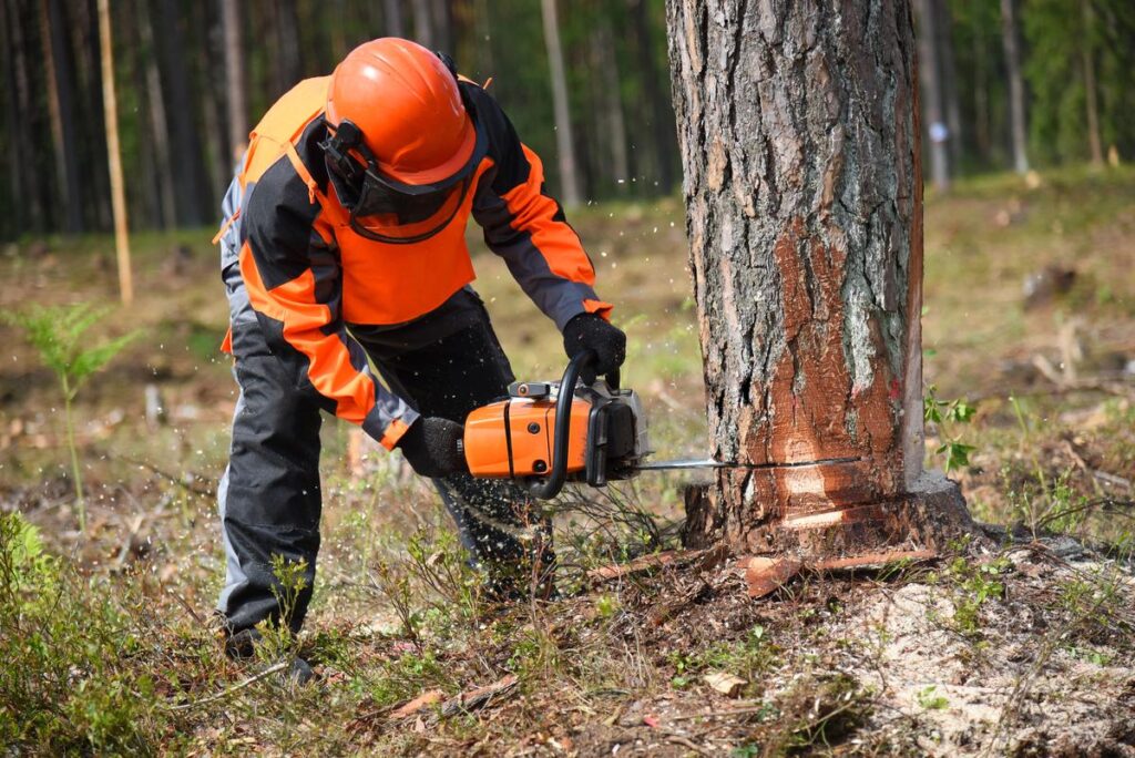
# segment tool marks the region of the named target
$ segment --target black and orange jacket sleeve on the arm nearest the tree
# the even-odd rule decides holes
[[[580,313],[608,318],[609,303],[595,294],[595,267],[563,208],[544,187],[544,165],[516,136],[512,123],[484,90],[466,85],[489,133],[490,170],[481,177],[473,217],[485,243],[508,266],[532,302],[562,331]]]

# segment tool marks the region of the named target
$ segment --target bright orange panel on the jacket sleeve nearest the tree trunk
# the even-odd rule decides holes
[[[583,244],[566,222],[553,220],[556,203],[540,192],[544,184],[544,163],[528,149],[528,145],[521,148],[530,167],[528,180],[502,196],[512,216],[512,228],[524,229],[531,234],[532,244],[544,255],[548,270],[554,275],[589,287],[594,286],[595,269],[583,252]]]

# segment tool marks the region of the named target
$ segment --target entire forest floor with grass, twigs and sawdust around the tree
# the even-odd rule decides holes
[[[572,221],[658,457],[703,456],[681,204]],[[950,475],[990,524],[948,555],[805,572],[760,600],[698,557],[597,576],[676,547],[688,478],[644,475],[556,504],[563,600],[490,606],[430,490],[328,420],[309,621],[247,664],[211,618],[235,395],[210,236],[137,235],[137,302],[91,330],[142,336],[76,399],[84,533],[56,377],[0,323],[6,755],[1135,756],[1135,170],[928,197],[926,381],[974,412],[932,424],[927,463],[972,446]],[[112,251],[10,245],[0,312],[112,304]],[[554,328],[476,262],[518,376],[557,376]],[[296,651],[314,684],[271,673]]]

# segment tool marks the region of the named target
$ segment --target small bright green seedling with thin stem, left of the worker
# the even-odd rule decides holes
[[[83,382],[141,334],[132,331],[101,345],[90,345],[83,339],[83,335],[108,312],[109,309],[94,309],[83,303],[34,305],[22,313],[3,317],[6,321],[24,330],[27,342],[40,353],[40,360],[59,378],[59,387],[64,394],[64,422],[67,426],[67,446],[70,448],[72,472],[75,479],[75,511],[78,515],[79,531],[86,531],[86,503],[83,498],[83,474],[75,447],[72,404]]]

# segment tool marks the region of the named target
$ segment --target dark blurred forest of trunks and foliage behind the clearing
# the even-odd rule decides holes
[[[936,186],[958,175],[1135,154],[1135,5],[915,5],[926,175]],[[0,237],[110,230],[98,2],[2,6],[0,203],[10,212]],[[134,229],[217,222],[251,125],[295,82],[330,73],[354,45],[381,35],[449,51],[462,73],[491,79],[568,205],[666,195],[680,182],[663,0],[109,6]],[[553,31],[558,45],[547,43]]]

